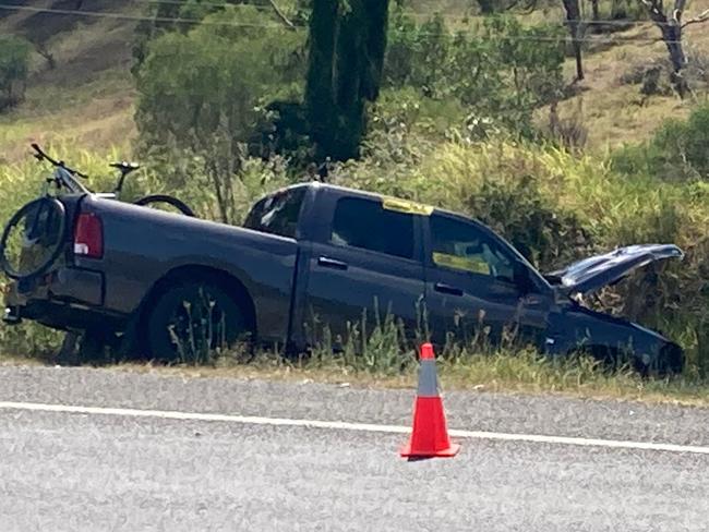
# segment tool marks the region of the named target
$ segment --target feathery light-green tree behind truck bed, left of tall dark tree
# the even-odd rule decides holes
[[[180,186],[190,176],[217,198],[219,218],[235,222],[244,161],[261,152],[261,109],[300,92],[303,36],[264,33],[256,10],[227,9],[218,20],[254,26],[197,26],[151,43],[137,77],[136,122],[140,150],[161,161],[165,184]]]

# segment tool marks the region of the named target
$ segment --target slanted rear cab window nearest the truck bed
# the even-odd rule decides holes
[[[280,237],[296,238],[298,217],[304,198],[305,189],[295,189],[264,197],[251,209],[244,227]]]

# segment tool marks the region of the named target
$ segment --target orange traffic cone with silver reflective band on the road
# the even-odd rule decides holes
[[[413,430],[409,444],[401,449],[402,457],[453,457],[460,450],[448,439],[443,401],[438,395],[433,346],[421,346],[419,389],[413,406]]]

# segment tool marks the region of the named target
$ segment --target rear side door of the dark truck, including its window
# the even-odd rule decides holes
[[[375,196],[328,195],[312,244],[303,324],[309,341],[369,332],[387,314],[416,328],[423,299],[421,216]],[[325,205],[323,205],[325,207]]]

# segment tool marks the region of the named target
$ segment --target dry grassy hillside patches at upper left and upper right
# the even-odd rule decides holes
[[[2,2],[2,4],[23,2]],[[44,0],[24,2],[33,8],[74,10],[77,2]],[[144,2],[91,0],[79,2],[82,10],[108,16],[75,16],[58,13],[0,10],[0,33],[23,35],[41,43],[52,55],[56,66],[35,53],[26,100],[11,112],[0,114],[0,160],[15,161],[32,141],[75,144],[86,149],[129,148],[135,133],[134,89],[130,74],[131,47],[136,20]],[[428,2],[413,2],[418,13],[432,12]],[[446,16],[460,13],[465,2],[441,1]],[[688,14],[709,8],[709,0],[690,2]],[[122,17],[111,17],[120,14]],[[539,11],[534,19],[563,20],[561,9]],[[668,117],[684,117],[690,101],[672,94],[644,96],[639,80],[624,82],[644,65],[665,60],[666,50],[659,31],[648,24],[602,36],[586,43],[586,80],[573,87],[573,96],[560,105],[562,118],[576,117],[588,131],[588,146],[604,150],[609,145],[645,138]],[[686,31],[687,52],[709,65],[707,25]],[[567,80],[574,64],[567,61]],[[701,95],[699,97],[702,97]],[[540,123],[549,120],[549,109],[537,113]]]

